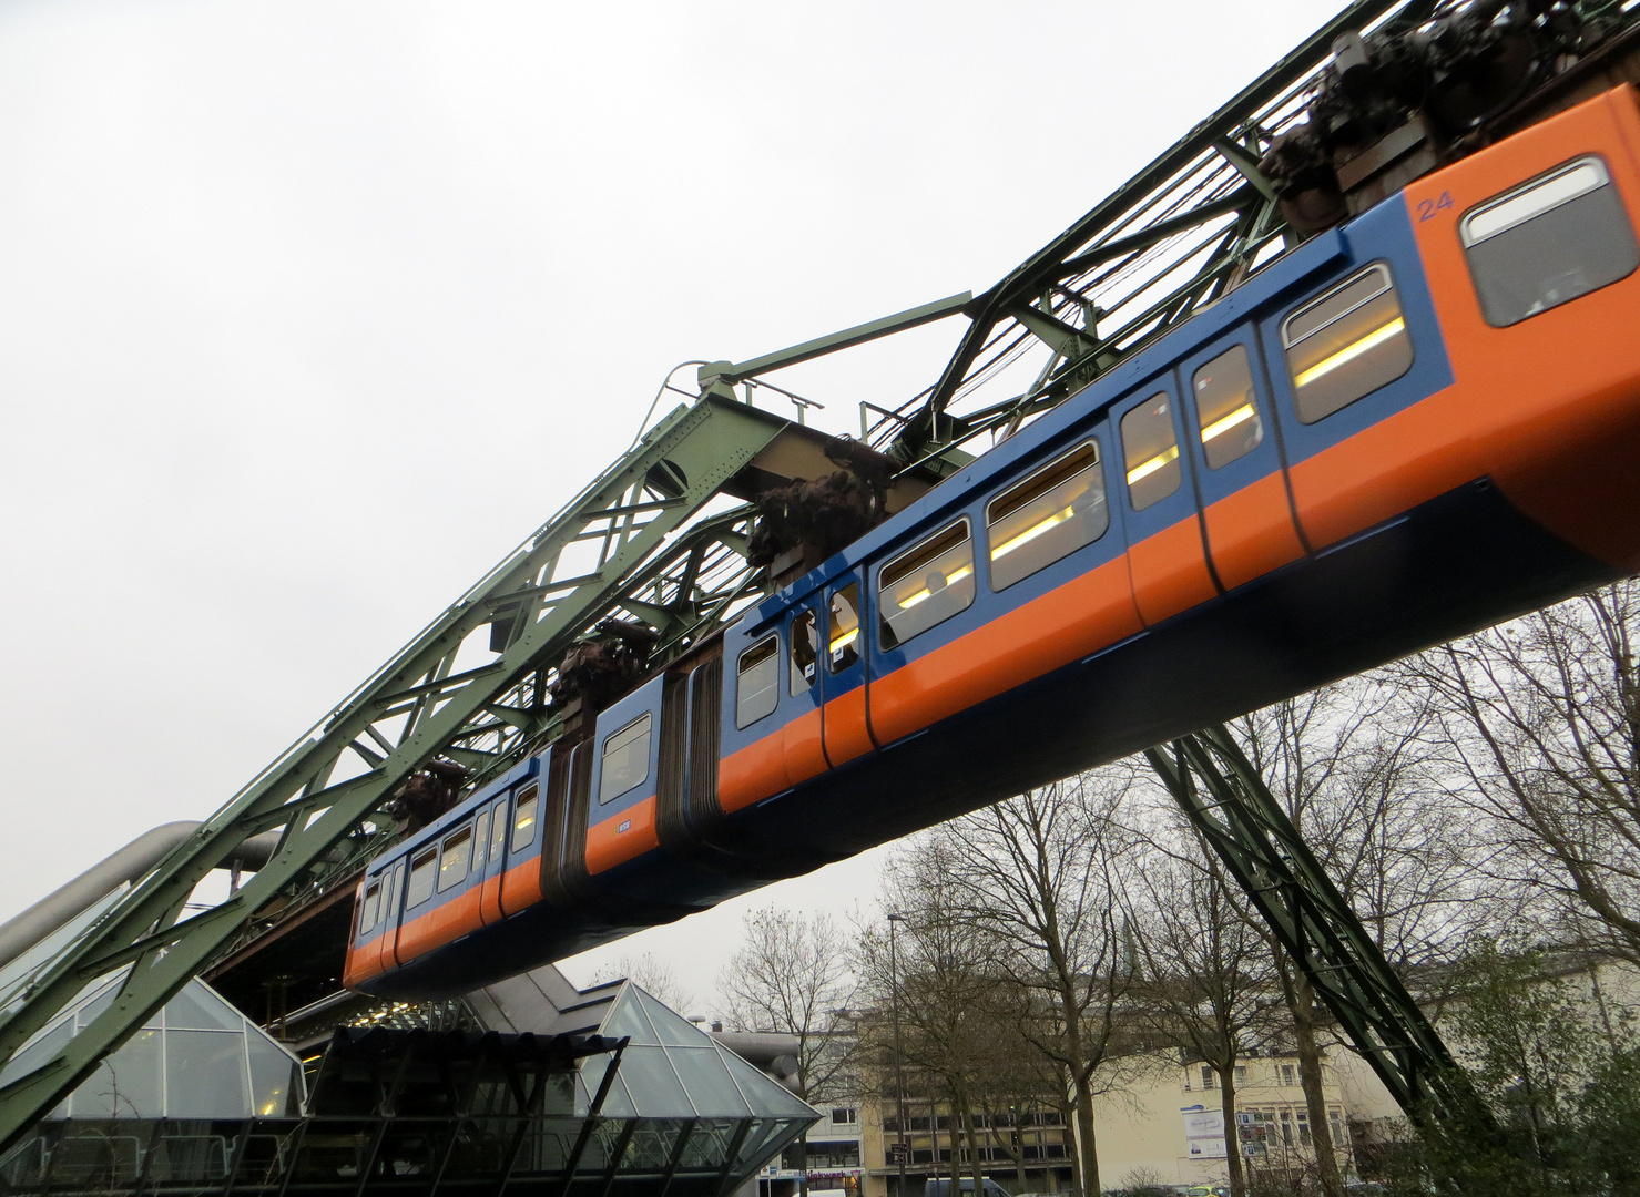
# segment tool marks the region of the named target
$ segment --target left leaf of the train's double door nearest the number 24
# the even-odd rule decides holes
[[[1133,603],[1146,626],[1207,602],[1207,566],[1191,454],[1179,453],[1178,387],[1153,379],[1110,410],[1122,443],[1122,513]]]

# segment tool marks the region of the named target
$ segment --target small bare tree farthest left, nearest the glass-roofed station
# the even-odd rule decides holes
[[[831,1102],[851,1095],[854,1026],[850,1007],[858,989],[851,949],[830,915],[764,907],[746,915],[745,941],[723,969],[728,1017],[736,1030],[797,1036],[797,1095]],[[802,1192],[809,1192],[809,1131]]]

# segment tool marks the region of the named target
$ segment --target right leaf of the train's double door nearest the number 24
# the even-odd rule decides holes
[[[1304,556],[1269,377],[1253,328],[1186,357],[1179,382],[1187,397],[1179,415],[1196,469],[1209,561],[1220,585],[1232,590]]]

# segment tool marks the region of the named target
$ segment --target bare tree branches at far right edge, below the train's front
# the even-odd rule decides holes
[[[1547,899],[1563,938],[1640,964],[1640,582],[1402,662],[1451,795],[1487,820],[1476,864]]]

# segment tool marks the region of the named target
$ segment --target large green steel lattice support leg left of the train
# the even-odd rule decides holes
[[[551,735],[546,676],[600,618],[625,612],[656,626],[664,659],[749,600],[751,569],[741,556],[749,508],[708,515],[689,530],[686,523],[786,425],[717,397],[674,410],[159,869],[5,995],[0,1059],[10,1059],[89,982],[126,974],[103,1013],[41,1067],[0,1089],[0,1151],[90,1076],[257,910],[326,867],[343,840],[380,835],[369,820],[417,769],[443,756],[482,782]],[[499,651],[482,651],[485,631]],[[474,649],[489,659],[461,667]],[[267,866],[221,905],[180,918],[194,887],[244,840],[269,830],[282,835]],[[356,859],[358,844],[341,856]]]

